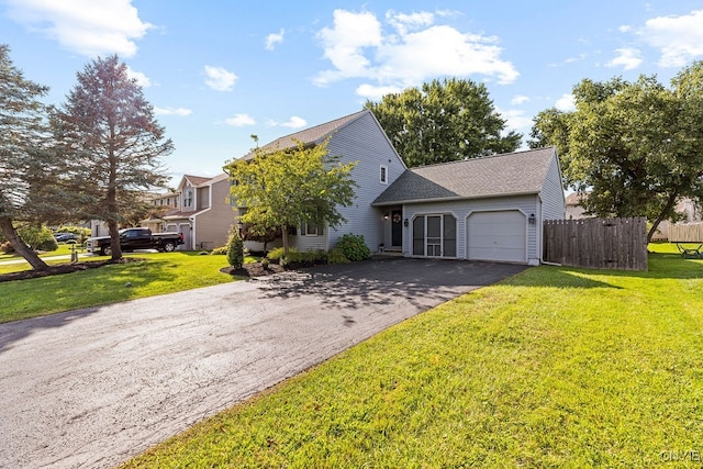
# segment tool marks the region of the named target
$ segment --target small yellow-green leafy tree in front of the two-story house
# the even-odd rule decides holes
[[[253,159],[225,166],[233,181],[231,194],[246,208],[241,221],[248,231],[264,235],[280,230],[288,255],[288,231],[302,224],[338,226],[345,221],[339,206],[349,206],[356,183],[355,164],[330,155],[327,143],[267,152],[257,148]]]

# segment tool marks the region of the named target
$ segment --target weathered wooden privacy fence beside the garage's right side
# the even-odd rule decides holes
[[[546,221],[543,259],[573,267],[647,270],[647,219]]]

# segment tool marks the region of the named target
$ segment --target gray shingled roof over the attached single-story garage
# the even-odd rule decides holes
[[[555,157],[550,146],[412,168],[373,205],[538,193]]]

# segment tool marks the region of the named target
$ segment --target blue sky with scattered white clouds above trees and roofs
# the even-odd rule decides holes
[[[583,78],[668,83],[703,59],[701,0],[0,0],[0,31],[55,104],[90,59],[119,54],[174,139],[176,180],[221,172],[252,134],[265,144],[434,78],[486,83],[526,142]]]

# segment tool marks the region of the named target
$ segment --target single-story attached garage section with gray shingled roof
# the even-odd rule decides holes
[[[373,205],[401,214],[408,257],[531,266],[542,261],[543,222],[565,215],[554,147],[412,168]]]

